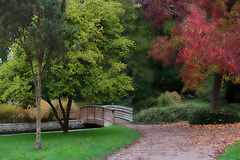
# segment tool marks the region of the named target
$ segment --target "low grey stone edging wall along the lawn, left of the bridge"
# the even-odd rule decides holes
[[[81,121],[69,121],[69,129],[82,129],[84,125]],[[58,122],[42,122],[41,131],[58,131],[62,130]],[[0,124],[0,135],[15,133],[36,132],[36,123],[7,123]]]

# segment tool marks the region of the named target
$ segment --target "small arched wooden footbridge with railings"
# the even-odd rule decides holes
[[[59,117],[63,119],[60,110]],[[118,105],[89,105],[81,108],[72,108],[69,119],[80,120],[84,123],[109,126],[115,123],[115,119],[133,121],[133,108]]]

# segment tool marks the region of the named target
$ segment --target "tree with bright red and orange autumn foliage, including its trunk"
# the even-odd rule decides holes
[[[155,60],[183,64],[184,89],[197,89],[215,74],[211,107],[218,104],[223,78],[239,82],[240,4],[238,0],[150,0],[144,17],[153,29],[174,20],[170,37],[159,36],[148,52]]]

